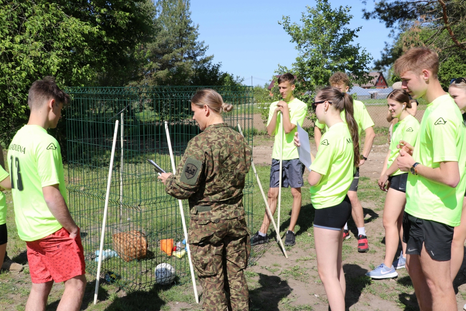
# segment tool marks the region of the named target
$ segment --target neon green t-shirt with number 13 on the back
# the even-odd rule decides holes
[[[56,139],[39,125],[24,125],[8,148],[8,167],[21,240],[35,241],[62,228],[42,193],[42,187],[58,184],[67,201],[62,155]]]

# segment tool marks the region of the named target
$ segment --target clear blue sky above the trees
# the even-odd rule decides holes
[[[373,7],[371,0],[367,2],[367,8]],[[352,7],[354,17],[349,27],[363,27],[355,42],[374,59],[380,58],[384,41],[392,40],[390,29],[378,20],[364,20],[360,0],[330,3],[332,7]],[[215,56],[214,62],[222,62],[223,71],[244,77],[244,83],[251,85],[251,76],[268,80],[279,63],[290,67],[294,62],[295,45],[278,21],[289,15],[291,21],[300,22],[307,5],[315,6],[315,0],[191,0],[191,17],[199,24],[199,39],[209,46],[208,55]],[[253,85],[263,83],[253,78]]]

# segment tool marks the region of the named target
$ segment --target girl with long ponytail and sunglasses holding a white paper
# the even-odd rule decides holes
[[[345,276],[342,265],[343,227],[351,215],[348,189],[359,164],[359,137],[353,116],[353,99],[336,87],[326,87],[315,97],[319,123],[329,128],[321,138],[308,182],[315,208],[314,243],[317,270],[332,311],[345,310]],[[345,110],[346,124],[340,117]],[[348,124],[348,125],[347,125]],[[299,138],[295,134],[295,145]]]

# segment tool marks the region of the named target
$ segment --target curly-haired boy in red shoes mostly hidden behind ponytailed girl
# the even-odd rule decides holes
[[[337,71],[334,73],[329,79],[330,86],[334,86],[342,91],[342,93],[346,93],[349,90],[349,77],[344,72]],[[353,101],[353,108],[354,108],[354,118],[356,120],[359,137],[361,137],[362,131],[365,132],[366,136],[364,138],[364,149],[362,151],[361,160],[359,161],[359,166],[363,165],[364,162],[369,157],[370,150],[372,149],[372,143],[374,142],[374,138],[376,134],[374,132],[374,122],[370,118],[369,113],[366,110],[366,106],[363,102],[358,100]],[[345,122],[344,118],[344,111],[342,111],[342,120]],[[314,138],[315,138],[315,146],[317,150],[319,150],[320,140],[322,138],[322,129],[324,128],[324,124],[320,124],[319,121],[315,122],[314,127]],[[327,129],[327,128],[326,128]],[[361,140],[359,140],[361,142]],[[369,250],[369,242],[367,241],[366,236],[366,228],[364,226],[364,213],[363,213],[363,206],[359,199],[357,198],[357,185],[359,183],[359,167],[356,169],[356,174],[354,176],[353,182],[349,187],[348,197],[351,201],[351,215],[353,216],[353,220],[356,223],[357,227],[357,251],[360,253],[365,253]],[[349,235],[348,224],[345,225],[343,230],[343,239],[349,239],[351,235]]]

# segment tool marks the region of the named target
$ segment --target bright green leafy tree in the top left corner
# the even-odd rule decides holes
[[[88,44],[104,33],[47,1],[0,0],[0,140],[8,143],[27,119],[27,90],[44,76],[60,85],[92,84],[101,60]]]

